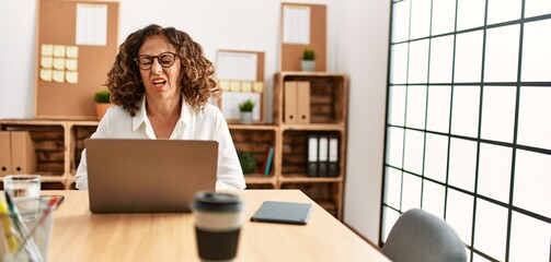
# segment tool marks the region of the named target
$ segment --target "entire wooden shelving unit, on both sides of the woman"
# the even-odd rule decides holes
[[[309,123],[285,121],[284,84],[303,81],[310,85]],[[282,72],[275,75],[274,124],[229,124],[238,152],[251,152],[256,159],[253,174],[245,175],[249,189],[300,189],[321,206],[342,218],[345,178],[347,83],[342,74]],[[0,120],[0,131],[28,131],[36,152],[36,174],[43,189],[74,189],[74,174],[84,148],[84,139],[95,131],[97,121]],[[309,177],[310,134],[331,134],[338,139],[338,168],[334,177]],[[262,171],[266,153],[274,148],[273,166]]]

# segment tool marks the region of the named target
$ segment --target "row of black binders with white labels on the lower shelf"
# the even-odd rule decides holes
[[[309,177],[338,176],[338,136],[336,134],[308,134]]]

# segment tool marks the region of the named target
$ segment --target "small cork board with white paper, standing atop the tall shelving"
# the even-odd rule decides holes
[[[324,4],[282,3],[282,71],[301,71],[302,51],[315,53],[317,72],[325,72],[326,8]]]

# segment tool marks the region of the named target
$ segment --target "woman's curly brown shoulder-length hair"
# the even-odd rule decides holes
[[[156,24],[131,33],[118,47],[113,68],[107,73],[105,85],[111,91],[111,99],[135,116],[139,110],[145,94],[144,84],[137,63],[138,49],[146,38],[163,35],[175,47],[182,69],[179,73],[180,85],[185,100],[193,110],[200,109],[210,96],[217,95],[218,87],[213,80],[215,69],[206,59],[203,47],[195,43],[187,33],[174,27],[161,27]]]

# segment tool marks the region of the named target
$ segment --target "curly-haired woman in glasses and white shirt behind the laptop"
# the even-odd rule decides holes
[[[92,139],[214,140],[219,146],[216,189],[244,189],[228,124],[208,103],[218,92],[213,74],[202,46],[185,32],[154,24],[136,31],[120,45],[107,74],[117,106],[105,114]],[[87,169],[84,150],[78,189],[88,189]]]

